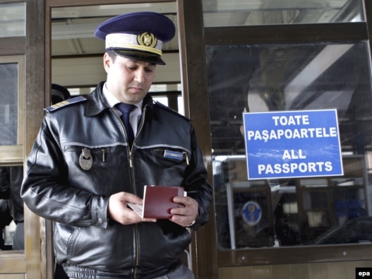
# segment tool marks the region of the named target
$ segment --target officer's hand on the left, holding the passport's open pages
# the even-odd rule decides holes
[[[108,217],[123,225],[137,222],[156,222],[156,219],[140,218],[136,212],[128,208],[127,203],[142,204],[142,199],[126,192],[119,192],[110,196],[107,208]]]

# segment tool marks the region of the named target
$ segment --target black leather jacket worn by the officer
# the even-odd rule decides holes
[[[102,102],[102,85],[86,100],[45,114],[21,196],[30,210],[55,221],[56,260],[70,277],[155,278],[179,266],[191,235],[169,220],[110,221],[109,196],[142,197],[145,184],[184,186],[199,204],[196,230],[208,221],[212,189],[188,119],[146,96],[130,150],[124,125]],[[182,154],[181,160],[165,158],[164,150]],[[83,170],[79,158],[86,160],[87,151],[92,165]]]

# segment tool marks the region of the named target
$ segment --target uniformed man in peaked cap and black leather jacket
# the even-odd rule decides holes
[[[174,34],[158,13],[105,21],[95,35],[106,40],[107,81],[47,108],[21,196],[55,222],[56,261],[70,278],[193,278],[179,255],[187,228],[208,221],[212,189],[190,121],[147,94]],[[129,126],[120,103],[135,106]],[[183,207],[169,219],[140,218],[127,203],[141,204],[146,184],[183,186],[187,196],[173,198]]]

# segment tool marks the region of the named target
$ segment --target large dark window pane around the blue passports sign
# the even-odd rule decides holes
[[[368,45],[213,46],[206,53],[219,249],[371,242]],[[243,112],[330,108],[337,109],[342,177],[248,181]]]

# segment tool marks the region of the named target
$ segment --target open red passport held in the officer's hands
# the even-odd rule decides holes
[[[184,187],[145,185],[143,205],[128,203],[141,218],[169,219],[171,208],[183,207],[172,200],[175,196],[186,196]]]

